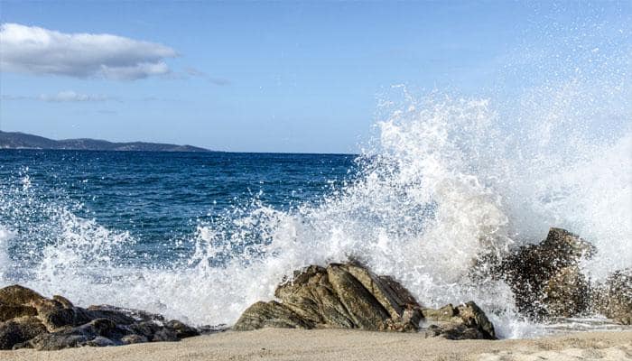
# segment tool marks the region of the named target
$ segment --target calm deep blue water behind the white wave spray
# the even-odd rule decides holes
[[[288,211],[353,176],[356,156],[287,153],[0,151],[0,225],[20,259],[59,243],[61,210],[128,233],[122,259],[164,264],[190,256],[200,224],[259,204]],[[256,236],[253,236],[256,242]],[[22,262],[28,262],[23,259]],[[16,280],[19,281],[19,280]]]

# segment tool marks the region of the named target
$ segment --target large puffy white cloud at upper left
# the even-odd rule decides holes
[[[36,26],[0,27],[0,69],[76,78],[142,79],[170,72],[172,48],[111,34],[63,33]]]

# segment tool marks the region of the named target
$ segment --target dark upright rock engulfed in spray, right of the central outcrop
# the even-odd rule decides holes
[[[586,283],[577,266],[594,253],[594,246],[579,236],[551,228],[543,242],[520,247],[494,273],[507,281],[521,313],[534,319],[573,316],[589,304],[589,292],[573,292]],[[572,296],[570,303],[562,297],[567,295]]]

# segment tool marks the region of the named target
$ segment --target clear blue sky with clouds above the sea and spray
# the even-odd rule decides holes
[[[502,102],[632,54],[629,1],[0,0],[0,23],[0,130],[231,152],[358,153],[394,86]]]

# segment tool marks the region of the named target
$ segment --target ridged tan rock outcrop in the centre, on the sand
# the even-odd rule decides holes
[[[274,295],[281,302],[256,302],[233,329],[418,331],[423,323],[427,336],[496,338],[494,326],[474,302],[423,308],[400,283],[355,263],[311,265],[280,284]]]

